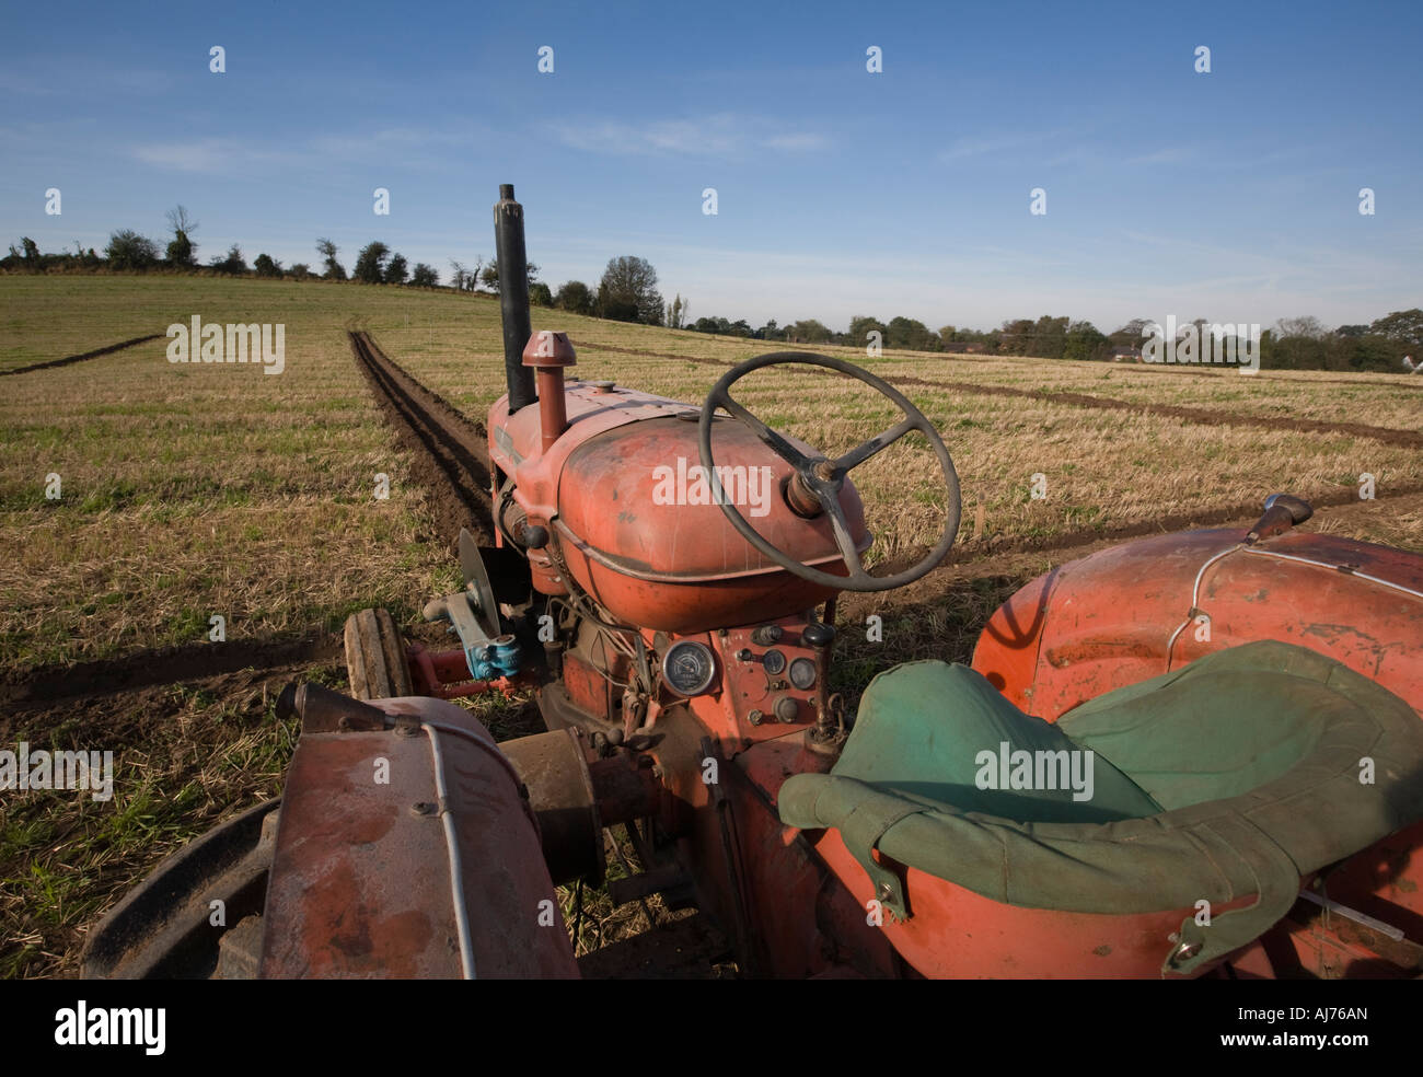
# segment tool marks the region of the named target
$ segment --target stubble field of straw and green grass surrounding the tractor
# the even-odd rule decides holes
[[[279,792],[293,730],[275,716],[276,690],[297,676],[344,686],[336,635],[347,613],[383,605],[425,632],[424,600],[458,586],[438,514],[379,418],[347,330],[369,330],[413,377],[482,418],[504,391],[498,303],[316,282],[10,276],[0,277],[0,373],[194,314],[283,323],[285,371],[171,364],[158,339],[0,378],[0,747],[111,748],[117,770],[110,802],[3,794],[3,976],[74,975],[85,926],[162,855]],[[896,640],[891,653],[845,633],[837,681],[851,693],[908,657],[968,660],[1003,598],[1091,542],[1163,521],[1224,522],[1274,491],[1335,505],[1313,528],[1423,548],[1423,452],[1409,437],[1348,430],[1416,438],[1416,378],[868,359],[549,310],[535,310],[534,326],[569,333],[573,377],[694,403],[727,367],[768,350],[842,356],[902,384],[958,465],[961,545],[932,589],[842,605],[847,619],[882,612]],[[859,383],[807,368],[758,371],[734,396],[831,452],[896,418]],[[1221,415],[1231,423],[1212,421]],[[1365,472],[1372,502],[1358,499]],[[374,497],[379,474],[387,499]],[[58,499],[46,497],[51,475]],[[881,454],[855,481],[872,561],[932,545],[943,494],[922,441]],[[213,616],[226,642],[209,640]],[[481,704],[481,714],[499,736],[531,731],[517,709]],[[585,945],[628,929],[628,911],[585,896]]]

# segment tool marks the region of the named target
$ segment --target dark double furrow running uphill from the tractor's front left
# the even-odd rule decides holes
[[[376,407],[411,455],[411,474],[430,495],[440,536],[454,545],[468,528],[494,545],[490,451],[482,423],[472,423],[387,357],[369,333],[354,331],[351,356],[366,374]]]

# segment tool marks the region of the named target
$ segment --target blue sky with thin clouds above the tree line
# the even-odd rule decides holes
[[[202,262],[316,265],[327,235],[448,279],[512,182],[544,280],[640,255],[693,317],[1423,304],[1417,3],[206,7],[9,4],[0,240],[166,242],[181,202]]]

